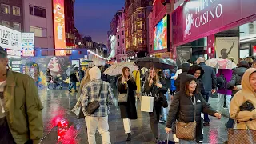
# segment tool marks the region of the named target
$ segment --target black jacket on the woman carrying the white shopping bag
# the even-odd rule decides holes
[[[155,86],[154,84],[152,84],[152,86],[150,86],[149,81],[146,80],[145,85],[144,85],[144,90],[146,94],[152,94],[152,96],[154,96],[154,106],[163,106],[163,107],[168,107],[168,102],[166,100],[166,96],[164,94],[166,94],[167,89],[165,86],[166,82],[163,82],[163,79],[159,79],[159,81],[162,84],[162,88],[158,88],[157,86]],[[156,96],[159,96],[159,98],[157,99]]]

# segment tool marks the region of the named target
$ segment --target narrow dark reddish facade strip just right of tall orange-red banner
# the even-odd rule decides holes
[[[74,0],[65,0],[66,48],[75,48]],[[66,54],[71,54],[67,51]]]

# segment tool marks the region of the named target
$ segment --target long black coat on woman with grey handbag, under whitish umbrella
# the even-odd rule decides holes
[[[122,84],[122,78],[118,79],[118,91],[120,94],[127,94],[128,91],[128,102],[119,103],[121,118],[137,119],[137,110],[136,110],[136,98],[134,90],[137,90],[137,86],[134,80],[127,81],[128,89],[126,85]]]

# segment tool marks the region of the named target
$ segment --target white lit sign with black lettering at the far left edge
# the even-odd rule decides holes
[[[0,25],[0,46],[4,49],[22,50],[22,33]]]

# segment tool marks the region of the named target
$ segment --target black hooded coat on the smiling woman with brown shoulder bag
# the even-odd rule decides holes
[[[196,101],[196,113],[195,120],[197,122],[197,137],[200,134],[201,130],[201,113],[209,114],[214,116],[214,113],[217,113],[210,107],[210,104],[207,103],[200,93],[194,94],[194,96],[188,96],[185,93],[185,84],[186,82],[191,82],[192,80],[197,81],[194,76],[187,74],[182,78],[182,90],[174,94],[174,99],[171,102],[170,110],[166,122],[166,127],[171,128],[172,124],[176,119],[179,122],[193,122],[194,121],[194,97]]]

